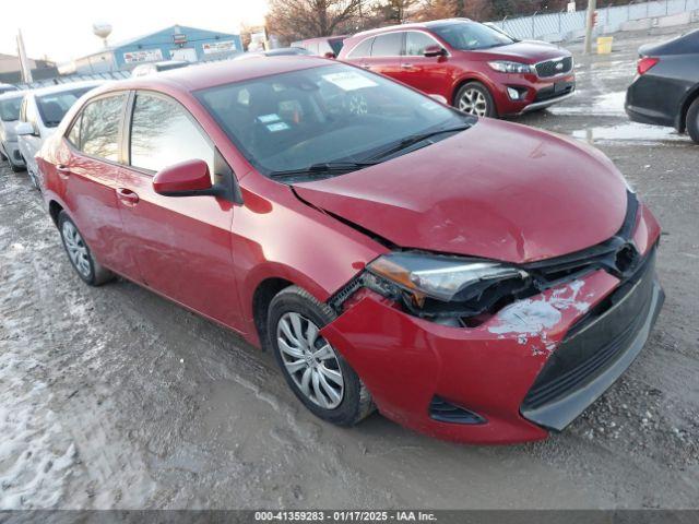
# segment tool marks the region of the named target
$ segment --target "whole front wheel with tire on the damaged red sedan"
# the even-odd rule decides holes
[[[317,417],[353,426],[374,410],[371,395],[342,355],[319,333],[335,318],[297,286],[270,303],[268,333],[286,383]]]

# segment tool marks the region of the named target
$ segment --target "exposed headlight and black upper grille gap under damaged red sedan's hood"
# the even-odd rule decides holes
[[[576,253],[528,264],[395,249],[369,263],[329,305],[341,313],[357,291],[369,289],[412,315],[475,327],[510,303],[593,271],[604,270],[624,282],[641,261],[632,241],[638,210],[636,195],[628,192],[626,217],[614,237]]]

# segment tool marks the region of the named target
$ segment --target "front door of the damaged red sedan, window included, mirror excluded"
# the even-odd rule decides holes
[[[139,281],[224,324],[239,324],[232,255],[234,204],[216,196],[163,196],[153,177],[183,160],[202,159],[212,176],[233,171],[190,112],[174,98],[137,92],[131,103],[129,165],[117,198],[123,249]]]

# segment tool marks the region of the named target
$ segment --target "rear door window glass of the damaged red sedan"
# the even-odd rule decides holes
[[[75,142],[73,144],[88,156],[119,162],[119,127],[126,99],[127,96],[121,94],[87,104],[79,120],[80,138],[73,135],[73,139],[69,136],[69,140],[78,140],[80,145]]]

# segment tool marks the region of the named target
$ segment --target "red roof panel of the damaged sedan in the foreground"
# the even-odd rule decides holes
[[[100,92],[121,90],[158,90],[176,88],[192,92],[216,85],[244,82],[272,74],[287,73],[303,69],[332,66],[334,60],[306,55],[274,57],[251,57],[248,60],[222,60],[211,63],[193,64],[189,68],[171,69],[157,75],[138,76],[110,84]]]

